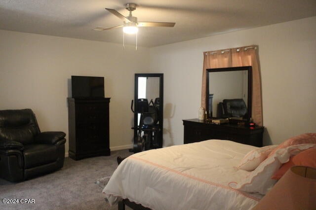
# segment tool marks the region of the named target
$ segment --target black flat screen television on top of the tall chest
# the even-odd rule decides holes
[[[71,76],[73,98],[104,98],[104,77]]]

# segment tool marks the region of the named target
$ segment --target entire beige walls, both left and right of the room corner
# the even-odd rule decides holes
[[[0,109],[32,108],[42,131],[68,135],[71,75],[105,76],[110,146],[132,141],[134,73],[164,73],[164,146],[183,143],[197,118],[203,51],[259,45],[264,144],[316,132],[316,17],[155,48],[0,31]],[[66,145],[68,151],[68,144]]]

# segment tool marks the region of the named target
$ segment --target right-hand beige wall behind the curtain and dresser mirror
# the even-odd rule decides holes
[[[183,143],[182,119],[198,117],[203,51],[259,45],[264,144],[316,132],[316,17],[151,48],[164,73],[164,145]]]

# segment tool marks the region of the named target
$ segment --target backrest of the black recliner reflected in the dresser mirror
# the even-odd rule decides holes
[[[232,117],[244,117],[247,114],[247,106],[243,99],[224,99],[225,114]]]

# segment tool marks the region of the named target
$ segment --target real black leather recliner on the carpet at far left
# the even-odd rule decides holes
[[[0,177],[21,181],[61,169],[64,132],[40,132],[31,109],[0,110]]]

